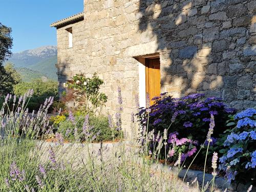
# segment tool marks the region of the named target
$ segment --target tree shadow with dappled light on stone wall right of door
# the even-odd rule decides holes
[[[255,106],[254,4],[141,0],[139,30],[152,29],[157,38],[161,62],[168,63],[161,69],[166,91],[177,96],[205,91],[237,108]]]

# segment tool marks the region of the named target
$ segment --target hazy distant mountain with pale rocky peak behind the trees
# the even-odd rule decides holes
[[[30,49],[13,53],[8,61],[12,62],[14,67],[20,71],[24,81],[30,78],[41,78],[46,76],[57,80],[57,47],[44,46],[36,49]]]

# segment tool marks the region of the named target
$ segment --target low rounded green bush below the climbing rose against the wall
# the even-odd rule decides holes
[[[84,116],[75,116],[76,126],[74,126],[74,121],[72,120],[72,115],[69,119],[59,123],[57,133],[61,133],[66,140],[75,141],[75,135],[82,135],[84,121],[89,115],[84,118]],[[111,129],[109,127],[108,117],[105,116],[90,116],[89,118],[90,134],[95,136],[94,141],[112,141],[113,139],[120,139],[120,132]],[[77,130],[75,130],[75,128]],[[77,133],[75,133],[77,132]],[[79,141],[83,141],[84,138],[79,138]]]

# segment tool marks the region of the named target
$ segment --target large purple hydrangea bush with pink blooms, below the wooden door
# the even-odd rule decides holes
[[[155,103],[152,106],[141,108],[137,114],[142,127],[148,123],[147,131],[154,131],[155,141],[160,136],[165,138],[170,161],[175,161],[179,153],[182,153],[182,160],[192,156],[205,143],[211,114],[215,116],[212,137],[218,137],[227,129],[223,125],[235,110],[226,108],[221,98],[203,97],[203,94],[193,94],[176,99],[163,93],[153,98]]]

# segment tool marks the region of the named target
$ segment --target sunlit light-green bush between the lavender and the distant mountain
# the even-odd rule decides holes
[[[30,112],[38,110],[41,103],[44,103],[46,98],[54,97],[58,99],[58,84],[56,81],[42,81],[36,79],[33,82],[20,82],[14,86],[14,94],[17,96],[24,95],[28,90],[33,90],[33,97],[30,98],[27,107]],[[52,107],[50,111],[52,110]]]

